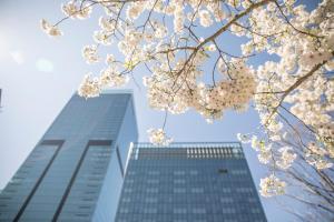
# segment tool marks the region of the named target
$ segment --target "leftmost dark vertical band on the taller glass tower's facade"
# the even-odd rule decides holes
[[[46,169],[43,170],[42,174],[39,176],[38,181],[36,182],[35,186],[32,188],[31,192],[29,193],[28,198],[26,199],[26,201],[23,202],[23,205],[21,206],[21,209],[19,210],[18,214],[16,215],[16,218],[13,219],[13,222],[18,222],[21,218],[21,215],[23,214],[26,208],[28,206],[30,200],[32,199],[33,194],[36,193],[38,186],[40,185],[40,183],[42,182],[43,178],[46,176],[47,172],[49,171],[51,164],[53,163],[56,157],[58,155],[60,148],[63,144],[63,140],[45,140],[40,143],[40,145],[58,145],[56,152],[53,153],[51,160],[49,161],[48,165],[46,167]]]

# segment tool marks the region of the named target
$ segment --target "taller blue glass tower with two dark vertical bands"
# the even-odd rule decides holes
[[[129,92],[73,95],[0,194],[0,221],[112,221],[137,123]]]

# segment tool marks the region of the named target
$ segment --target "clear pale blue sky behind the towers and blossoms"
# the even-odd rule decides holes
[[[304,0],[313,8],[316,0]],[[99,65],[86,64],[81,48],[92,43],[91,33],[98,29],[99,12],[85,21],[70,20],[61,26],[65,36],[50,39],[41,32],[39,20],[58,21],[61,1],[1,0],[0,1],[0,189],[24,161],[47,128],[55,120],[84,74],[98,73]],[[230,43],[230,42],[228,42]],[[256,61],[261,62],[261,61]],[[144,72],[144,71],[143,71]],[[137,80],[141,82],[139,73]],[[161,127],[164,113],[148,108],[145,89],[127,85],[135,91],[139,125],[139,140],[147,141],[146,130]],[[175,141],[235,141],[236,133],[252,132],[258,125],[257,113],[227,111],[223,120],[207,124],[194,111],[181,115],[168,115],[166,131]],[[266,169],[259,165],[256,153],[244,148],[246,158],[258,186]],[[293,221],[279,209],[274,199],[262,199],[268,221]]]

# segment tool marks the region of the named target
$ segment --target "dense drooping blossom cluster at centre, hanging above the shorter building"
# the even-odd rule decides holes
[[[206,57],[199,56],[195,59],[200,64]],[[216,85],[196,82],[202,74],[198,67],[194,65],[187,68],[187,72],[180,72],[183,68],[184,62],[179,61],[175,67],[177,75],[174,75],[163,64],[151,77],[145,79],[151,108],[167,109],[171,113],[183,113],[193,108],[206,119],[218,119],[226,109],[244,109],[255,90],[253,72],[240,60],[232,61],[232,80],[222,80]]]

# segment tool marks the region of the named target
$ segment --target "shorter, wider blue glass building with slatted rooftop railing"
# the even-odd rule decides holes
[[[138,143],[116,222],[265,222],[238,142]]]

